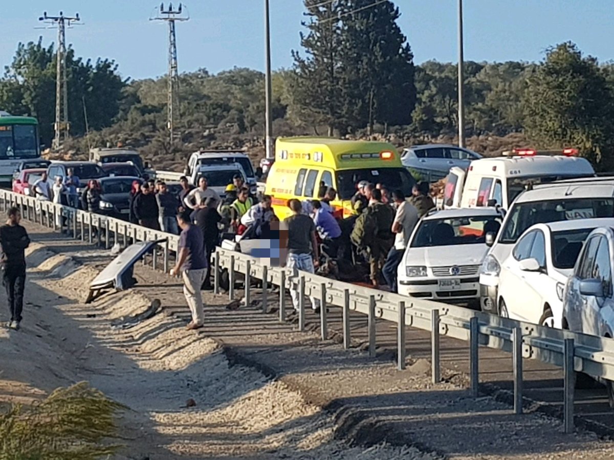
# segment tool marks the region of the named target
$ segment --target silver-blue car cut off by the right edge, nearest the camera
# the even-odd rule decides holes
[[[599,337],[614,337],[614,229],[594,229],[567,280],[563,296],[564,329]],[[614,408],[614,382],[604,381]]]

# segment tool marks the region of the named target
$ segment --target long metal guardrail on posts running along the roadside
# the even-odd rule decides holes
[[[106,235],[104,245],[110,247],[111,238],[115,243],[128,245],[130,240],[165,240],[153,252],[152,266],[169,271],[169,256],[176,252],[179,237],[161,231],[153,231],[126,221],[77,210],[49,201],[38,201],[32,197],[0,190],[0,209],[6,211],[17,206],[26,220],[40,223],[55,231],[66,232],[75,239],[96,242],[101,245],[103,231]],[[64,221],[64,222],[63,222]],[[94,230],[95,229],[95,230]],[[162,263],[157,255],[161,250]],[[300,292],[298,310],[298,329],[305,330],[305,296],[313,296],[321,301],[320,331],[322,339],[328,338],[327,309],[340,307],[343,313],[343,344],[350,346],[349,314],[351,311],[367,315],[368,351],[376,353],[376,321],[387,320],[398,324],[398,369],[405,368],[405,326],[423,329],[431,333],[432,381],[440,379],[440,337],[469,342],[470,348],[470,388],[473,396],[478,396],[479,384],[479,347],[495,348],[512,353],[514,375],[514,411],[523,412],[523,361],[522,358],[537,359],[564,370],[564,429],[573,431],[573,389],[574,371],[614,380],[614,339],[594,335],[577,334],[560,329],[544,328],[537,324],[509,320],[488,313],[448,305],[439,302],[414,299],[399,294],[386,293],[376,289],[363,288],[350,283],[339,282],[306,272],[294,275],[292,270],[282,267],[263,265],[260,259],[235,251],[217,248],[214,254],[214,293],[220,293],[220,275],[228,270],[230,279],[229,296],[235,296],[237,274],[246,278],[245,302],[251,302],[251,280],[258,278],[263,283],[262,309],[268,309],[271,285],[279,289],[279,320],[286,320],[286,289],[294,288]]]

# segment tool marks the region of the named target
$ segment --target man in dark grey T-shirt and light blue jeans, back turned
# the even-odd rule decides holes
[[[308,215],[303,214],[303,205],[297,199],[289,202],[292,215],[284,222],[288,232],[288,267],[292,269],[292,276],[298,277],[299,270],[314,273],[318,264],[318,251],[316,240],[316,226]],[[290,289],[292,304],[298,310],[298,289]],[[311,297],[311,308],[319,312],[319,301]]]

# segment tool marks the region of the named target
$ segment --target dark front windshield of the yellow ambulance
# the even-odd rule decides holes
[[[411,196],[411,189],[416,180],[404,167],[380,167],[369,169],[347,169],[337,171],[337,194],[342,200],[349,200],[356,193],[356,185],[361,180],[381,183],[393,191],[400,189],[405,196]]]

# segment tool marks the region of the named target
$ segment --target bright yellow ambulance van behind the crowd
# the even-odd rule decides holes
[[[362,180],[381,183],[391,192],[400,189],[406,196],[411,196],[416,183],[401,164],[397,149],[387,142],[287,137],[275,144],[265,194],[273,197],[273,209],[284,219],[290,215],[290,199],[316,199],[321,184],[333,187],[335,217],[344,218],[352,214],[350,200]]]

